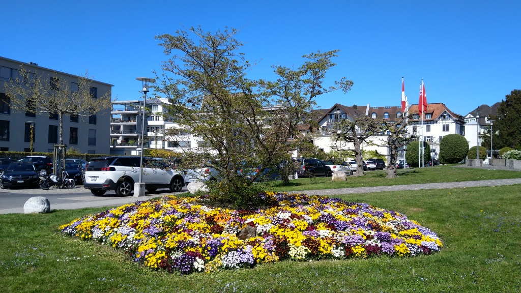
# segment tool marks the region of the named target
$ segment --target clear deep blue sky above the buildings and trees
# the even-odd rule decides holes
[[[299,66],[304,54],[340,50],[328,80],[346,94],[316,102],[398,106],[428,103],[466,115],[521,88],[521,1],[24,1],[2,3],[0,56],[114,84],[118,100],[141,99],[137,77],[167,60],[155,35],[192,26],[240,29],[249,76]]]

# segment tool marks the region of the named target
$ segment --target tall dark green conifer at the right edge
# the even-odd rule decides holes
[[[521,146],[521,90],[513,90],[505,95],[498,106],[498,114],[494,119],[494,149],[504,146],[516,148]],[[489,140],[490,143],[490,140]]]

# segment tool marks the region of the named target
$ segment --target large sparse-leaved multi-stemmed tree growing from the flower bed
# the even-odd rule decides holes
[[[238,50],[237,30],[215,33],[201,28],[156,36],[170,59],[157,75],[156,92],[171,102],[168,115],[190,129],[208,149],[206,157],[220,172],[221,181],[210,184],[214,199],[235,205],[255,205],[265,170],[275,167],[296,149],[297,125],[306,119],[317,96],[342,89],[352,82],[341,79],[323,85],[334,66],[337,51],[304,55],[297,69],[274,66],[275,81],[246,77],[251,64]],[[194,39],[192,39],[192,37]],[[190,158],[197,152],[188,151]],[[196,163],[196,162],[194,162]]]

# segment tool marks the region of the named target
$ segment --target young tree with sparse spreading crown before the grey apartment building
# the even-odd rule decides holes
[[[70,80],[58,75],[37,75],[20,68],[19,77],[5,83],[11,107],[19,112],[56,115],[59,120],[59,144],[63,144],[63,116],[89,117],[109,109],[110,93],[97,96],[92,78],[85,73],[77,77],[72,88]]]

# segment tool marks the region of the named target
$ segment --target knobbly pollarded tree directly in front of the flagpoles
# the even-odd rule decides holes
[[[388,121],[383,119],[382,126],[389,133],[387,145],[389,148],[389,162],[387,162],[386,178],[395,178],[396,161],[398,161],[398,151],[410,143],[414,136],[407,131],[407,117],[402,115],[398,121]]]

